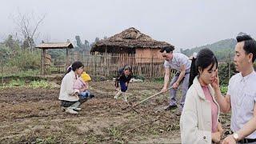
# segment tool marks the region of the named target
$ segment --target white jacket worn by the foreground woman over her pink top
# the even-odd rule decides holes
[[[218,106],[213,88],[209,85],[208,89]],[[211,125],[211,104],[206,99],[197,76],[186,93],[186,101],[182,110],[180,119],[182,143],[211,143]]]

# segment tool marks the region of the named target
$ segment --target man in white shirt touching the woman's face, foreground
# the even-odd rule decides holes
[[[231,110],[229,135],[223,143],[256,143],[256,42],[250,35],[239,34],[235,46],[234,64],[238,74],[230,78],[226,97],[222,97],[218,78],[214,80],[217,102],[221,111]]]

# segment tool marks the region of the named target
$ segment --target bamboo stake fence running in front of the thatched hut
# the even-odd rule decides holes
[[[95,54],[83,53],[70,55],[70,63],[80,61],[84,64],[86,73],[93,76],[113,76],[122,66],[130,65],[134,75],[146,78],[159,78],[164,75],[163,60],[152,56],[151,58],[136,57],[135,54]],[[51,73],[64,73],[65,61],[56,61],[50,66]],[[172,71],[174,73],[174,71]]]

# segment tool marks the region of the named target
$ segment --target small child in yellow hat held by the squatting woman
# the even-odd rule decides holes
[[[90,75],[86,72],[82,72],[81,76],[74,82],[74,90],[77,92],[78,96],[82,99],[94,98],[94,94],[90,94],[88,82],[91,80]],[[84,90],[84,91],[82,91]],[[80,93],[78,93],[80,91]]]

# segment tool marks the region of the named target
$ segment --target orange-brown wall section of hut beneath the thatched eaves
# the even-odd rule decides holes
[[[164,59],[159,50],[150,48],[136,49],[136,63],[149,63],[152,62],[152,58],[154,58],[154,62],[163,62]]]

